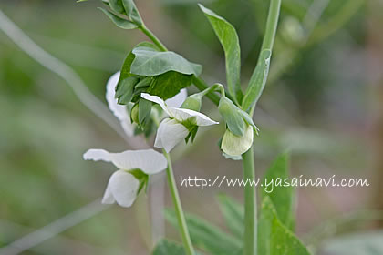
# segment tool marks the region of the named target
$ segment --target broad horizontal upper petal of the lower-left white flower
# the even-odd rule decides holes
[[[126,150],[110,153],[104,149],[91,148],[84,154],[86,160],[112,162],[117,168],[130,170],[140,168],[146,174],[155,174],[168,166],[166,158],[153,149]]]

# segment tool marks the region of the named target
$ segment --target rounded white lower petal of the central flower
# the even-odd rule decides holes
[[[164,148],[166,152],[170,152],[188,134],[189,131],[185,126],[177,120],[167,117],[160,123],[154,147]]]

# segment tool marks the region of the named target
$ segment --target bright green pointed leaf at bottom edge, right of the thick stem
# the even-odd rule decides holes
[[[288,230],[276,215],[273,202],[265,197],[258,222],[258,254],[309,255],[305,245]]]

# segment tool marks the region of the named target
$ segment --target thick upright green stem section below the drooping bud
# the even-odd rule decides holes
[[[253,180],[255,178],[254,150],[253,146],[243,154],[243,179]],[[257,211],[256,211],[256,189],[255,185],[244,187],[244,240],[243,255],[254,255],[257,253]]]

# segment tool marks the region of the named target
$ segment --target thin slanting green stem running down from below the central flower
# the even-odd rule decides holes
[[[178,189],[176,181],[174,179],[173,167],[171,165],[171,155],[162,149],[163,155],[165,155],[168,160],[168,168],[166,169],[166,174],[168,176],[169,189],[171,189],[171,198],[173,199],[175,212],[178,219],[178,225],[181,229],[181,238],[183,245],[186,250],[186,254],[194,255],[194,249],[191,244],[191,237],[189,235],[188,226],[186,225],[185,215],[183,214],[180,195],[178,194]]]

